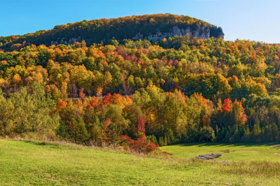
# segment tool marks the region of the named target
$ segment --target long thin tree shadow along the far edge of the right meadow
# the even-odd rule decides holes
[[[267,142],[267,143],[177,143],[173,145],[178,146],[272,146],[280,145],[280,142]]]

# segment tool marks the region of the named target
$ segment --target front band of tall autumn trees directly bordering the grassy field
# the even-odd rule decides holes
[[[81,89],[78,99],[55,104],[36,83],[7,99],[0,96],[0,129],[12,137],[120,143],[143,152],[177,142],[272,142],[280,140],[279,103],[279,97],[270,97],[267,107],[260,107],[267,115],[255,115],[259,123],[251,125],[236,99],[219,99],[215,105],[201,93],[188,97],[150,85],[131,96],[86,97]]]

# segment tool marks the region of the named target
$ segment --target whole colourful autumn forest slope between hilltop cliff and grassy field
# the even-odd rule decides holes
[[[280,45],[190,36],[123,42],[0,52],[0,134],[143,152],[280,140]]]

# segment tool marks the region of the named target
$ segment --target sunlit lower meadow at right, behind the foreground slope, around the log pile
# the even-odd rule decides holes
[[[280,162],[280,144],[276,143],[186,143],[162,146],[160,149],[179,158],[216,153],[222,154],[220,160]]]

